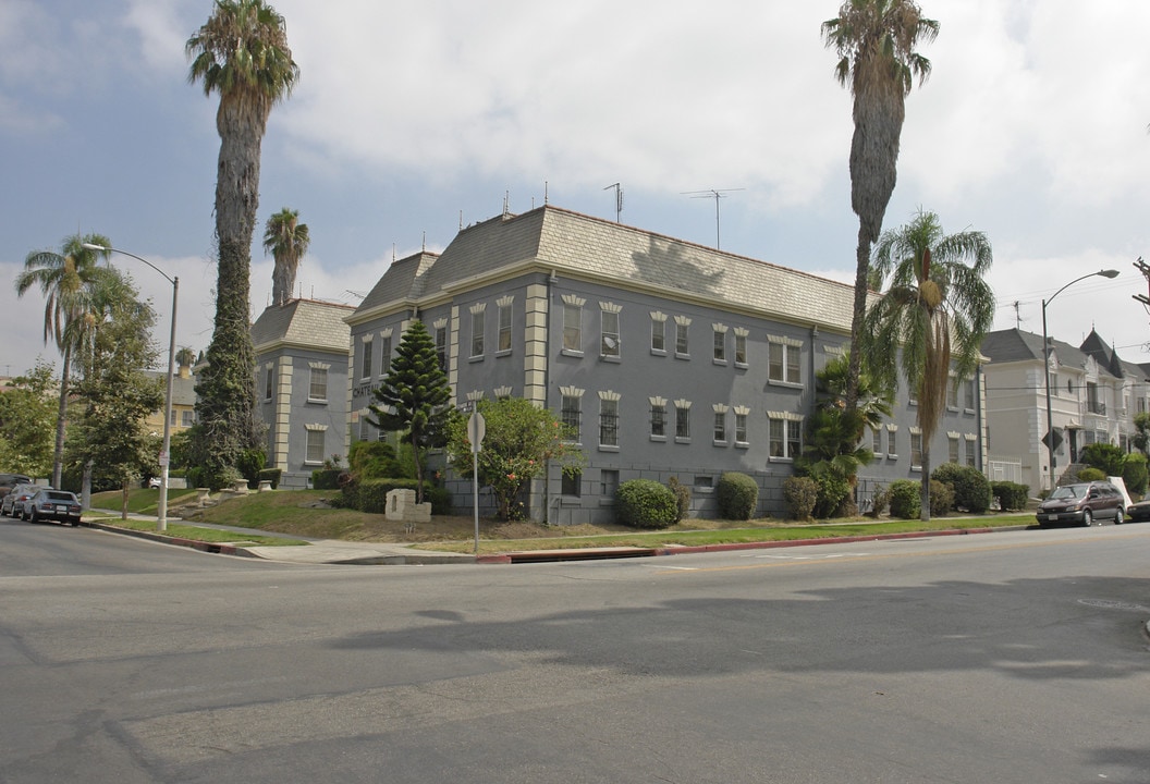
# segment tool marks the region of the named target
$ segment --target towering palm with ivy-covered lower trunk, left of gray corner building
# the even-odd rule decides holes
[[[260,145],[271,107],[291,94],[299,67],[288,47],[284,18],[263,0],[216,0],[185,49],[192,63],[189,80],[201,82],[206,95],[220,94],[216,314],[195,406],[202,425],[197,452],[218,486],[235,478],[240,455],[258,438],[250,274]]]

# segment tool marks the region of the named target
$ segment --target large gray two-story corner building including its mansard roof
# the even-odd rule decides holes
[[[692,515],[714,515],[723,471],[754,477],[758,513],[782,515],[814,372],[846,348],[851,299],[842,283],[550,205],[503,214],[442,254],[394,261],[347,316],[348,437],[378,437],[371,390],[419,318],[457,406],[523,397],[577,428],[582,476],[552,467],[532,487],[534,520],[610,521],[620,483],[670,477],[691,487]],[[981,400],[980,379],[956,386],[933,464],[982,468]],[[879,456],[860,472],[864,504],[895,478],[920,478],[905,393],[867,438]],[[470,481],[446,476],[470,508]]]

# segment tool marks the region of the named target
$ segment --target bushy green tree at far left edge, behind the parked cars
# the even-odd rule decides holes
[[[55,369],[40,360],[0,392],[0,466],[29,476],[52,471],[56,425]]]

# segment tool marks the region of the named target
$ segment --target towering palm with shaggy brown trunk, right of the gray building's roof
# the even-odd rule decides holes
[[[851,341],[860,338],[866,315],[871,246],[882,231],[882,218],[895,190],[898,140],[906,116],[904,99],[913,77],[930,74],[930,61],[915,52],[920,40],[933,41],[938,23],[922,16],[913,0],[846,0],[838,16],[822,23],[822,37],[838,54],[835,76],[854,95],[851,139],[851,208],[859,217],[856,248],[854,305]],[[860,354],[851,354],[846,408],[858,399]]]

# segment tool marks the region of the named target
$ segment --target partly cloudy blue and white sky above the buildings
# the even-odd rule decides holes
[[[831,1],[274,0],[301,69],[263,141],[259,223],[300,212],[305,297],[356,303],[393,258],[551,203],[853,280],[851,98]],[[995,248],[996,328],[1150,362],[1145,0],[922,0],[938,39],[906,102],[884,228],[922,207]],[[31,251],[99,232],[179,277],[178,344],[210,340],[216,99],[184,43],[208,0],[0,0],[0,375],[43,341],[12,282]],[[702,197],[698,192],[703,192]],[[719,191],[722,199],[708,197]],[[715,207],[720,208],[716,225]],[[126,256],[161,315],[171,286]],[[253,317],[271,262],[253,247]]]

